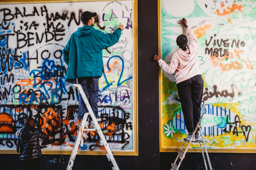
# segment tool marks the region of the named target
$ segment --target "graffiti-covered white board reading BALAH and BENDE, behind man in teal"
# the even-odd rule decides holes
[[[132,1],[1,5],[0,150],[16,148],[15,132],[27,117],[50,137],[42,149],[72,150],[81,120],[78,90],[65,82],[62,50],[82,27],[83,11],[97,12],[94,28],[105,33],[124,24],[118,43],[103,50],[98,122],[111,149],[134,150],[132,8]],[[97,132],[88,136],[80,149],[102,150]]]

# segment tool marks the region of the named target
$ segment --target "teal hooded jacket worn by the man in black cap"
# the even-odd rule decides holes
[[[89,25],[78,28],[63,49],[63,59],[68,65],[67,82],[80,77],[101,77],[103,72],[102,50],[116,44],[121,30],[103,33]]]

